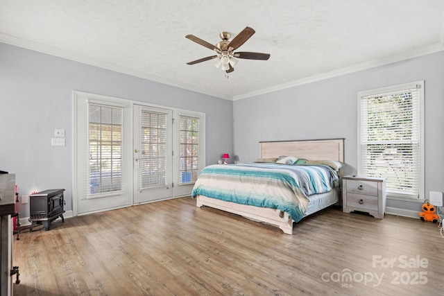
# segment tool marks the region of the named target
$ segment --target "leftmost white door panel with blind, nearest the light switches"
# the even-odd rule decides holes
[[[131,205],[131,104],[83,92],[73,98],[74,215]]]

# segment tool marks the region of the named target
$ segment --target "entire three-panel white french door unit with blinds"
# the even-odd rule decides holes
[[[205,114],[76,91],[73,104],[74,216],[191,193]]]

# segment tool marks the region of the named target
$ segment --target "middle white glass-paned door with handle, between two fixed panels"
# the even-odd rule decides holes
[[[134,105],[134,204],[173,197],[171,110]]]

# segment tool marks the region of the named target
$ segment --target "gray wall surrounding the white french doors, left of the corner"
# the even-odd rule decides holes
[[[72,91],[206,114],[207,164],[232,153],[232,101],[0,43],[0,170],[16,173],[19,195],[65,191],[72,209]],[[66,146],[51,146],[54,129]],[[21,217],[28,204],[19,204]]]

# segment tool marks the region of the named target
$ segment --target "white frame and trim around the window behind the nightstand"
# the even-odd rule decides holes
[[[364,167],[363,167],[363,159],[362,157],[364,157],[364,155],[362,155],[362,150],[361,150],[361,146],[362,146],[362,125],[364,124],[364,119],[361,117],[361,108],[362,108],[362,99],[366,98],[366,97],[371,97],[371,96],[379,96],[379,95],[384,95],[384,94],[389,94],[389,93],[393,93],[393,92],[403,92],[406,91],[408,89],[418,89],[418,130],[417,132],[419,133],[418,139],[420,141],[419,143],[419,164],[418,164],[418,195],[414,196],[414,195],[408,195],[408,194],[402,194],[402,193],[393,193],[391,191],[389,191],[389,189],[387,190],[387,197],[391,198],[391,199],[400,199],[400,200],[409,200],[409,201],[414,201],[414,200],[423,200],[425,198],[425,166],[424,166],[424,155],[425,155],[425,149],[424,149],[424,134],[425,134],[425,129],[424,129],[424,101],[425,101],[425,88],[424,88],[424,80],[419,80],[419,81],[415,81],[415,82],[409,82],[409,83],[404,83],[401,85],[393,85],[390,87],[382,87],[382,88],[378,88],[378,89],[370,89],[370,90],[366,90],[363,92],[358,92],[357,95],[357,109],[358,109],[358,114],[357,114],[357,160],[358,160],[358,164],[357,164],[357,171],[358,171],[358,175],[363,175],[364,173]]]

